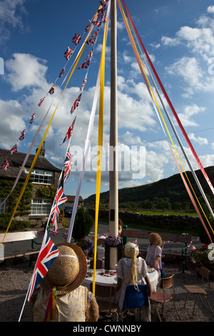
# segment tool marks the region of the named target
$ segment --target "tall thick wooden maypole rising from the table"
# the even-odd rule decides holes
[[[118,119],[117,119],[117,5],[111,4],[111,112],[109,140],[109,234],[118,236]],[[116,248],[110,248],[110,269],[118,262]]]

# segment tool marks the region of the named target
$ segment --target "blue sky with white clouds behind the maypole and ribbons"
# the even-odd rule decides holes
[[[63,92],[64,77],[57,79],[54,94],[47,94],[66,64],[63,54],[68,46],[75,49],[71,39],[76,33],[83,34],[99,4],[96,0],[83,0],[81,6],[77,1],[68,0],[0,0],[1,148],[11,149],[17,143],[19,152],[27,153],[44,115],[51,106],[31,151],[31,154],[35,154]],[[126,0],[126,6],[200,162],[203,167],[213,166],[214,5],[212,1]],[[156,182],[178,174],[178,167],[170,152],[169,142],[170,145],[172,143],[168,132],[173,141],[172,147],[175,146],[173,148],[176,149],[182,162],[182,169],[185,171],[190,169],[173,129],[168,124],[161,102],[158,101],[168,127],[168,132],[166,134],[163,132],[119,8],[117,19],[118,188],[121,189]],[[108,29],[106,44],[101,192],[109,189],[110,37],[111,26]],[[72,171],[63,187],[65,194],[68,195],[76,194],[102,42],[103,24],[99,29],[88,69],[86,87],[83,89],[78,109],[71,115],[71,107],[78,97],[86,69],[73,71],[45,139],[46,159],[59,169],[63,169],[68,142],[63,144],[62,142],[76,116],[71,138]],[[81,46],[81,43],[78,46]],[[66,64],[66,71],[70,69],[77,51],[78,47]],[[86,46],[78,66],[86,60],[90,51],[91,46]],[[148,79],[156,94],[149,75]],[[40,99],[45,96],[46,99],[39,107]],[[163,102],[193,169],[199,169],[164,97]],[[31,115],[34,113],[36,113],[34,124],[29,125]],[[17,142],[24,129],[26,129],[24,140]],[[83,198],[96,194],[97,143],[98,106],[80,192]]]

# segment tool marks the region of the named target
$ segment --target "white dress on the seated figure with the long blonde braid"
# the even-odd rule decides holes
[[[138,284],[144,283],[143,277],[148,276],[148,267],[146,262],[143,258],[138,257],[136,262],[137,267],[137,277],[138,277]],[[121,289],[117,293],[117,301],[118,307],[120,310],[123,310],[123,300],[125,297],[126,287],[131,285],[130,278],[131,278],[131,259],[130,258],[122,258],[118,261],[118,265],[116,268],[116,275],[117,277],[121,278]]]

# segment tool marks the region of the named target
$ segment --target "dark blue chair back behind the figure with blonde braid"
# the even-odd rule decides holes
[[[148,307],[147,285],[128,285],[123,301],[123,310],[126,308]]]

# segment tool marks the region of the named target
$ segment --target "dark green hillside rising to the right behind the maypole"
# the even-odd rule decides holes
[[[208,174],[210,182],[214,184],[214,167],[205,168],[205,172]],[[198,180],[205,192],[211,207],[214,206],[213,193],[205,181],[200,169],[195,171]],[[198,197],[200,202],[203,201],[203,197],[200,194],[200,190],[195,182],[193,174],[186,172],[184,177],[188,182],[190,191]],[[193,189],[192,189],[192,187]],[[193,192],[194,191],[194,192]],[[84,199],[85,204],[95,204],[96,195],[93,194],[87,199]],[[102,192],[100,195],[101,204],[108,204],[109,192]],[[138,187],[123,188],[118,191],[119,207],[137,207],[142,209],[193,209],[193,204],[190,200],[183,180],[180,174],[175,174],[167,179],[161,179],[158,182],[151,184],[144,184]]]

